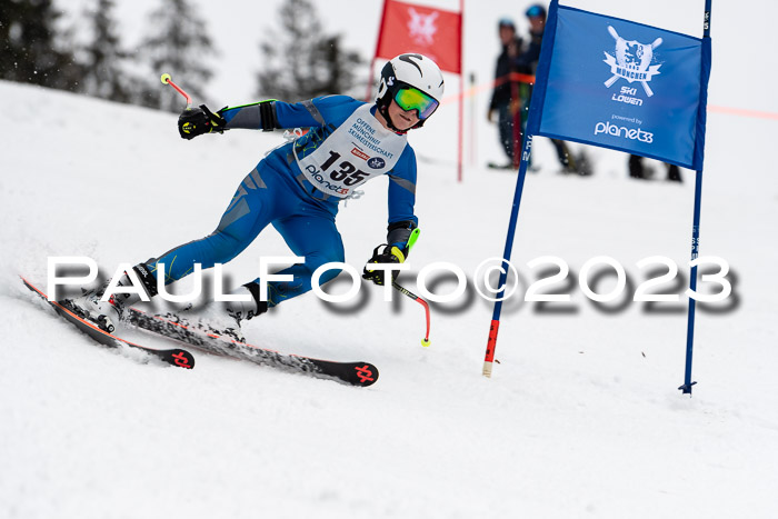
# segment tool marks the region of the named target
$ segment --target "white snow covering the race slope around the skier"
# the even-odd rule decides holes
[[[729,21],[718,19],[724,34]],[[716,70],[735,61],[721,56],[711,103],[727,104],[735,79]],[[747,98],[729,104],[754,108],[757,98]],[[512,260],[531,282],[542,267],[531,270],[528,261],[563,259],[571,281],[553,288],[572,302],[562,305],[568,311],[507,302],[499,363],[487,379],[491,305],[471,287],[476,267],[502,252],[516,176],[480,164],[500,157],[493,127],[483,126],[482,160],[468,162],[458,183],[456,109],[445,107],[411,136],[423,159],[422,232],[412,272],[400,281],[416,291],[415,273],[449,261],[470,289],[455,303],[433,305],[431,346],[419,343],[419,305],[399,295],[383,302],[367,285],[359,302],[328,306],[309,295],[246,327],[251,342],[285,352],[376,363],[379,381],[358,389],[197,350],[191,371],[142,365],[93,345],[17,279],[44,283],[50,256],[89,256],[110,273],[211,232],[278,134],[187,142],[174,116],[8,82],[0,82],[0,517],[778,512],[778,254],[769,239],[778,181],[764,154],[774,146],[774,120],[709,114],[701,253],[730,263],[735,292],[712,308],[724,310],[698,312],[699,383],[689,398],[676,389],[686,298],[658,307],[669,311],[630,301],[607,311],[584,297],[577,278],[588,259],[610,256],[634,290],[646,279],[637,262],[657,254],[688,277],[690,171],[682,184],[631,181],[625,154],[591,149],[596,174],[565,177],[550,143],[538,139],[541,170],[527,178]],[[358,270],[385,236],[386,182],[366,191],[338,218],[347,261]],[[256,277],[260,256],[287,253],[269,229],[225,270],[243,282]],[[605,278],[598,291],[611,286]],[[337,282],[332,291],[347,288]],[[446,281],[437,290],[452,288]]]

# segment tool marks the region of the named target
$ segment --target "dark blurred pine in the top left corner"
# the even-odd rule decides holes
[[[0,1],[0,78],[71,90],[79,68],[58,39],[52,0]]]

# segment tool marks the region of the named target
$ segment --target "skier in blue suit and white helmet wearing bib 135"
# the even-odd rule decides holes
[[[409,252],[408,241],[418,226],[416,201],[416,156],[406,133],[421,128],[436,111],[443,93],[438,66],[421,54],[400,54],[381,70],[375,104],[348,96],[326,96],[288,103],[260,101],[216,113],[205,104],[184,110],[178,121],[183,139],[203,133],[223,133],[238,128],[265,130],[310,128],[262,159],[238,187],[216,230],[207,237],[181,244],[138,263],[142,290],[151,298],[158,293],[157,279],[171,283],[192,272],[226,263],[243,251],[257,236],[272,224],[296,256],[305,263],[293,265],[278,275],[291,275],[292,281],[269,281],[267,300],[260,298],[259,279],[239,287],[233,296],[241,301],[213,302],[189,322],[200,329],[218,331],[243,341],[242,320],[311,289],[311,275],[329,262],[345,260],[343,244],[335,224],[338,203],[353,198],[356,188],[378,177],[389,176],[389,226],[386,244],[376,248],[362,278],[376,285],[385,281],[381,270],[370,263],[401,263]],[[164,266],[164,271],[158,268]],[[328,270],[320,283],[335,279],[340,270]],[[395,272],[391,278],[393,280]],[[127,306],[138,302],[126,272],[108,301],[101,298],[103,285],[84,296],[67,300],[83,317],[101,326],[120,321]],[[137,288],[137,287],[136,287]]]

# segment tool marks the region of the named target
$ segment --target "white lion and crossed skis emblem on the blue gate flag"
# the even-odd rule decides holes
[[[654,96],[651,87],[648,86],[654,76],[659,74],[661,64],[651,64],[654,60],[654,50],[662,43],[661,38],[657,38],[652,43],[640,43],[636,40],[625,40],[621,38],[612,26],[608,26],[608,32],[616,40],[616,57],[605,53],[602,60],[610,66],[611,78],[605,82],[605,86],[610,88],[619,79],[626,79],[630,83],[639,81],[642,84],[646,94],[650,98]]]

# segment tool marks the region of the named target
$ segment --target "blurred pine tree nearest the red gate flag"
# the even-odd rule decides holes
[[[260,44],[258,94],[285,101],[348,93],[355,70],[363,63],[356,51],[345,51],[340,36],[327,36],[313,3],[287,0],[279,9],[281,34],[268,31]]]

